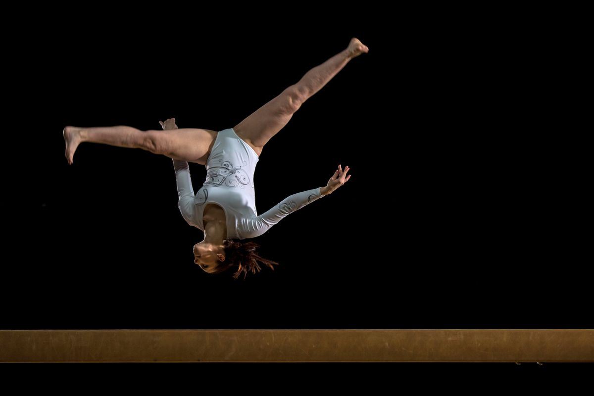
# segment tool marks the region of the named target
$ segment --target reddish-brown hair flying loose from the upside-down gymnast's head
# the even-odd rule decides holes
[[[223,246],[225,247],[225,261],[219,263],[213,273],[221,273],[233,268],[236,269],[233,279],[237,279],[241,273],[244,273],[245,279],[248,272],[252,274],[260,272],[261,268],[258,261],[273,270],[273,265],[279,264],[261,257],[256,251],[260,245],[255,242],[241,243],[233,241],[233,239],[225,239]]]

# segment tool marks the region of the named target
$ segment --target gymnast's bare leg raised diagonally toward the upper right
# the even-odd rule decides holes
[[[293,113],[315,92],[321,90],[349,60],[368,52],[358,39],[350,40],[346,50],[311,69],[295,85],[258,108],[233,129],[260,155],[264,145],[289,122]]]

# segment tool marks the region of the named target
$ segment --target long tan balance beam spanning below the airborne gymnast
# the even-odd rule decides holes
[[[594,330],[0,330],[0,362],[593,362]]]

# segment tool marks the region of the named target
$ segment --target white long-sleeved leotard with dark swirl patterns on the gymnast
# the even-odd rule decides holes
[[[233,129],[217,133],[206,162],[206,181],[194,194],[188,162],[173,160],[178,184],[178,207],[185,221],[204,231],[207,203],[225,210],[227,238],[254,238],[280,219],[323,197],[320,187],[293,194],[258,216],[254,193],[254,170],[258,155]]]

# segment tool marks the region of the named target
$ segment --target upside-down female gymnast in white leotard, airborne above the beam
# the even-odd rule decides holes
[[[204,231],[204,240],[194,245],[194,263],[208,273],[230,268],[239,274],[260,271],[260,263],[274,269],[274,261],[260,257],[254,238],[295,210],[333,193],[350,179],[349,167],[338,165],[324,187],[293,194],[262,215],[255,208],[254,170],[264,145],[289,122],[293,113],[318,92],[353,58],[367,53],[358,39],[347,49],[311,69],[299,82],[258,108],[231,129],[178,129],[175,119],[160,122],[165,130],[141,131],[129,126],[64,128],[66,158],[72,164],[82,142],[141,148],[173,159],[177,180],[178,207],[189,225]],[[204,185],[196,194],[192,189],[188,162],[206,165]]]

